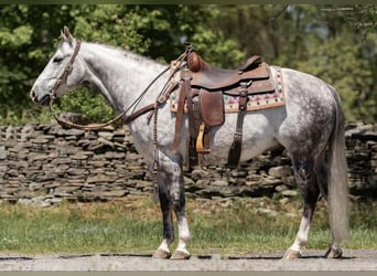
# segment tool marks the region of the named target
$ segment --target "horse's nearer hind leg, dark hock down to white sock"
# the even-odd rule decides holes
[[[310,225],[313,219],[316,201],[320,195],[320,188],[314,173],[314,161],[308,157],[292,156],[294,177],[303,199],[303,212],[300,229],[291,247],[288,248],[283,258],[301,257],[301,247],[309,241]]]

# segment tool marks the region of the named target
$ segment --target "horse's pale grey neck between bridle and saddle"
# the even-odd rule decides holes
[[[163,70],[163,65],[157,62],[105,45],[86,43],[85,50],[84,60],[88,66],[89,81],[117,112],[130,106]],[[140,105],[151,104],[155,99],[162,87],[161,81],[146,95]]]

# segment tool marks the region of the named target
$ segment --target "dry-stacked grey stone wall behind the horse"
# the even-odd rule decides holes
[[[377,198],[377,125],[346,131],[351,193]],[[291,161],[283,149],[237,170],[195,168],[185,173],[187,197],[294,197]],[[0,127],[0,200],[37,205],[105,201],[152,193],[142,157],[127,127],[100,131],[30,124]]]

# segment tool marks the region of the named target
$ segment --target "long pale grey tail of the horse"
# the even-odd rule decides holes
[[[330,226],[335,242],[348,240],[348,181],[345,158],[344,113],[340,96],[330,86],[335,99],[335,126],[328,140],[328,205]]]

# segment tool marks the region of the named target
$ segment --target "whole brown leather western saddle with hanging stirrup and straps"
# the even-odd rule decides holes
[[[228,153],[228,167],[236,168],[241,153],[243,124],[247,112],[248,96],[273,92],[276,88],[270,68],[254,55],[238,70],[217,68],[202,60],[187,47],[181,70],[181,86],[176,109],[173,149],[180,141],[180,129],[185,108],[188,116],[188,168],[198,163],[198,153],[209,153],[208,131],[225,121],[224,97],[239,97],[234,141]]]

